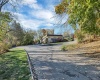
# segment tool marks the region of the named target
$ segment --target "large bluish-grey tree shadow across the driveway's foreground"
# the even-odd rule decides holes
[[[34,55],[31,61],[39,80],[100,80],[100,70],[95,65],[81,65],[66,60]],[[67,57],[66,57],[67,58]]]

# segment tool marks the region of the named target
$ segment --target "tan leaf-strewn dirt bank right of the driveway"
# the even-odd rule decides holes
[[[80,55],[100,59],[100,41],[69,45],[67,47],[70,48],[69,51],[78,51],[82,53]]]

